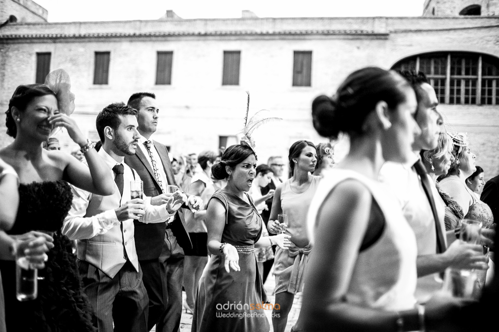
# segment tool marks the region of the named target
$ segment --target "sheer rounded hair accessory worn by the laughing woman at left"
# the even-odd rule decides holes
[[[57,96],[59,112],[70,115],[74,111],[74,94],[71,93],[71,82],[64,69],[56,69],[45,77],[47,87]]]

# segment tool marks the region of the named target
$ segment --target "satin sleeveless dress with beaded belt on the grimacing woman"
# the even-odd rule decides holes
[[[227,192],[213,194],[226,209],[222,243],[234,245],[239,253],[241,271],[225,270],[225,257],[212,255],[199,281],[192,320],[192,332],[268,332],[270,326],[261,308],[266,294],[261,282],[254,243],[261,235],[262,220],[251,204]],[[208,203],[210,204],[210,203]]]

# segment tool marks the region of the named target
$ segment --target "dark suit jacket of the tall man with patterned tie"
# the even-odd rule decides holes
[[[156,151],[161,158],[161,163],[166,173],[169,185],[177,185],[172,170],[170,157],[165,145],[153,141]],[[144,194],[155,197],[162,193],[158,180],[154,176],[154,171],[149,164],[149,156],[146,156],[140,148],[137,148],[134,155],[125,156],[125,163],[133,168],[144,182]],[[165,184],[166,185],[166,184]],[[156,259],[161,254],[163,241],[165,240],[165,222],[145,224],[135,221],[135,246],[139,260]],[[187,232],[186,222],[182,209],[179,209],[172,221],[171,229],[177,242],[184,249],[192,248],[191,239]]]

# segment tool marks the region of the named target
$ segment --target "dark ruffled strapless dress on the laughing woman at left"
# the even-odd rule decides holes
[[[45,268],[38,271],[45,279],[38,280],[38,297],[32,301],[17,301],[15,262],[0,261],[7,331],[96,331],[71,242],[60,234],[72,199],[71,187],[62,180],[19,185],[19,210],[8,233],[55,231],[54,247]]]

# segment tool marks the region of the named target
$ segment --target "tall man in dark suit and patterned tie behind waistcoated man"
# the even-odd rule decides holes
[[[139,112],[137,129],[141,137],[135,155],[125,157],[125,163],[144,181],[144,194],[152,197],[151,204],[164,204],[171,196],[166,193],[167,186],[177,184],[166,146],[150,139],[158,125],[156,96],[136,93],[130,97],[128,105]],[[200,203],[195,196],[188,198],[191,208],[199,209]],[[156,325],[157,332],[177,332],[180,327],[183,248],[192,247],[181,210],[175,221],[168,224],[135,223],[137,255],[149,296],[148,329]]]

